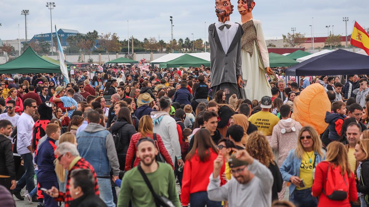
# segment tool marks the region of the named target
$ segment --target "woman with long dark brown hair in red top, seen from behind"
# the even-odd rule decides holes
[[[184,163],[181,201],[182,206],[192,207],[221,207],[220,201],[211,201],[207,196],[207,186],[209,177],[213,172],[214,160],[218,157],[218,149],[211,139],[210,132],[207,129],[200,129],[194,137],[192,149],[186,156]],[[225,172],[225,164],[220,174]],[[207,178],[207,179],[206,179]],[[226,181],[221,176],[221,185]]]

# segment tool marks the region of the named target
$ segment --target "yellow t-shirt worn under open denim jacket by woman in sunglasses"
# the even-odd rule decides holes
[[[311,163],[310,163],[310,158]],[[313,164],[314,164],[315,154],[314,151],[304,152],[301,165],[300,165],[300,179],[304,180],[305,187],[296,186],[297,190],[308,189],[313,186]]]

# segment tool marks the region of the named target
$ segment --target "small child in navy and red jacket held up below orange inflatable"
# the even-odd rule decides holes
[[[331,141],[337,141],[341,137],[342,124],[344,123],[345,119],[346,119],[345,103],[342,101],[333,102],[332,112],[331,113],[327,112],[325,115],[325,123],[329,124],[328,138]]]

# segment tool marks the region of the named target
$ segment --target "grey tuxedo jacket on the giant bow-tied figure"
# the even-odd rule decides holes
[[[225,54],[215,24],[209,26],[211,87],[221,83],[237,84],[237,76],[242,76],[241,37],[243,34],[244,30],[239,25],[231,46]]]

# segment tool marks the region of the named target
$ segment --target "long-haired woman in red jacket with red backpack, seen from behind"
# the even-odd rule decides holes
[[[327,183],[334,180],[328,180],[332,178],[328,175],[328,171],[331,175],[335,175],[335,171],[340,172],[341,176],[336,179],[344,179],[346,198],[343,200],[331,200],[328,198],[325,192],[327,192]],[[347,206],[350,207],[350,201],[354,202],[358,200],[358,192],[356,190],[355,175],[350,169],[348,161],[347,150],[345,146],[338,142],[333,141],[327,147],[327,158],[324,162],[317,165],[315,170],[314,184],[312,188],[313,196],[319,196],[319,207],[325,206]],[[331,194],[330,194],[331,195]]]

